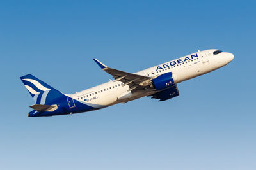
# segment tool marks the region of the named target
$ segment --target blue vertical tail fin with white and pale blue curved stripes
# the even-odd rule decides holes
[[[54,102],[59,97],[65,96],[60,91],[54,89],[47,83],[39,80],[35,76],[28,74],[26,76],[20,77],[21,81],[24,83],[29,94],[33,97],[36,104],[50,104]]]

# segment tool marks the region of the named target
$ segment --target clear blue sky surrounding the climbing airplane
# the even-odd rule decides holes
[[[255,169],[255,1],[1,1],[0,169]],[[235,59],[103,110],[28,118],[19,77],[65,93],[108,81],[93,62],[136,72],[197,49]]]

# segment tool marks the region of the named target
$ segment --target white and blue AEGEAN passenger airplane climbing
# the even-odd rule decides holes
[[[219,69],[233,59],[232,53],[221,50],[198,50],[137,73],[113,69],[93,59],[114,80],[74,94],[64,94],[31,74],[20,79],[36,103],[29,106],[33,111],[28,117],[49,117],[99,110],[144,96],[166,101],[179,96],[177,83]]]

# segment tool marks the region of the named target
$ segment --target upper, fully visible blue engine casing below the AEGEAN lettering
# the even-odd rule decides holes
[[[164,73],[157,78],[154,78],[152,81],[156,90],[163,90],[175,85],[172,72]]]

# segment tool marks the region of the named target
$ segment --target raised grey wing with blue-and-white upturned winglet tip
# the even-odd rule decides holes
[[[111,74],[113,78],[115,78],[114,81],[121,81],[122,83],[124,83],[122,86],[129,85],[130,91],[134,89],[145,89],[145,88],[152,89],[152,87],[150,87],[150,85],[152,84],[151,77],[127,73],[124,71],[120,71],[118,69],[112,69],[97,59],[93,59],[93,60],[100,66],[100,68],[103,71],[106,71],[107,73]]]

